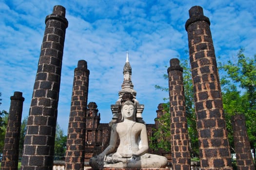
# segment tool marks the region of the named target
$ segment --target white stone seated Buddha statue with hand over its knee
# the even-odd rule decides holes
[[[149,154],[146,126],[136,121],[136,104],[122,100],[122,122],[112,125],[109,146],[90,159],[95,170],[103,168],[165,168],[168,161],[164,156]],[[116,152],[116,145],[120,144]]]

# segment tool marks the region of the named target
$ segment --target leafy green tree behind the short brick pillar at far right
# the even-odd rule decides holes
[[[220,70],[226,73],[223,74],[224,76],[222,76],[220,82],[231,147],[233,146],[233,132],[230,118],[236,113],[242,113],[246,118],[247,133],[255,158],[256,55],[253,58],[245,57],[243,51],[243,49],[240,49],[237,53],[237,61],[229,60],[227,64],[219,63]],[[239,86],[241,91],[238,91],[236,86]]]

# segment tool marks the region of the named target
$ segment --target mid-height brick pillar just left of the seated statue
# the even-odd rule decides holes
[[[85,121],[90,71],[84,60],[75,69],[68,124],[65,170],[83,170],[85,153]]]

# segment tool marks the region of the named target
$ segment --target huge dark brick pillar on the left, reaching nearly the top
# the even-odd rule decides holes
[[[27,121],[21,170],[52,170],[65,31],[65,8],[45,19],[38,70]]]

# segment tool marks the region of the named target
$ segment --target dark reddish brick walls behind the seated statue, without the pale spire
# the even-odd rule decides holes
[[[98,113],[97,104],[90,102],[88,104],[86,113],[86,135],[85,135],[85,162],[88,162],[92,156],[102,153],[102,151],[109,145],[111,127],[109,123],[100,123],[100,114]],[[158,105],[157,118],[166,113],[163,111],[162,104]],[[146,124],[148,140],[157,129],[158,120],[155,119],[155,124]],[[148,153],[166,156],[171,163],[171,152],[162,150],[152,151],[149,149]]]

